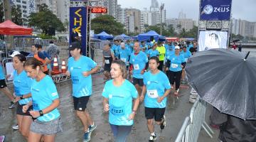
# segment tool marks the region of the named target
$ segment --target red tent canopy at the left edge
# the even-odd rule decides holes
[[[32,28],[18,26],[10,20],[0,23],[1,35],[32,35]]]

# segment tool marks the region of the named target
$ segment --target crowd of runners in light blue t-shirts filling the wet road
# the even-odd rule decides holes
[[[105,87],[102,90],[103,108],[109,112],[109,123],[114,141],[126,141],[134,124],[139,105],[144,113],[149,130],[149,142],[156,140],[154,121],[164,130],[166,99],[171,89],[178,98],[181,83],[186,83],[184,68],[186,60],[196,52],[197,43],[191,42],[140,42],[114,40],[106,43],[102,51]],[[0,90],[11,99],[10,108],[16,106],[18,130],[27,141],[55,141],[56,133],[63,131],[62,105],[53,80],[48,75],[47,57],[41,45],[32,45],[33,55],[25,57],[14,52],[14,94],[5,83],[0,67]],[[82,122],[83,141],[90,141],[97,125],[87,111],[87,102],[92,95],[91,75],[100,66],[91,58],[81,55],[81,44],[69,45],[71,57],[68,71],[73,88],[75,114]],[[53,55],[54,56],[54,55]],[[9,77],[9,75],[7,75]],[[142,103],[144,102],[144,103]],[[92,102],[93,103],[93,102]]]

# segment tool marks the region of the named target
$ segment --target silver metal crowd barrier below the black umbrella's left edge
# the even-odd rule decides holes
[[[210,138],[213,138],[213,131],[210,129],[210,126],[206,124],[205,115],[206,102],[200,99],[200,97],[197,97],[189,116],[187,116],[183,122],[175,142],[196,142],[201,127],[208,133]]]

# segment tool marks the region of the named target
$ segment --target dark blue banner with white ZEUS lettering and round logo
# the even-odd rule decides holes
[[[200,20],[230,20],[232,0],[201,0]]]

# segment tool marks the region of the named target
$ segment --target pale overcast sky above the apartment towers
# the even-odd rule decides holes
[[[151,0],[117,0],[122,8],[149,9]],[[158,0],[164,3],[166,18],[178,18],[178,12],[186,13],[186,18],[198,20],[200,0]],[[256,22],[256,0],[233,0],[232,17]]]

